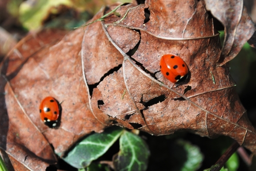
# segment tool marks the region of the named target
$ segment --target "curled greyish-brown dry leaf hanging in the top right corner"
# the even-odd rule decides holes
[[[222,57],[218,62],[220,66],[229,62],[242,49],[243,45],[254,34],[253,21],[247,14],[242,0],[211,1],[206,0],[206,8],[225,27],[225,41]]]

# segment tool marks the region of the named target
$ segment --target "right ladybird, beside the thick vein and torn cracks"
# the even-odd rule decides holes
[[[184,81],[188,75],[188,67],[182,58],[173,54],[165,54],[160,59],[160,70],[164,77],[172,83]]]

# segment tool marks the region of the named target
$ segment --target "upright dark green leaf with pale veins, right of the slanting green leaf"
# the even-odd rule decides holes
[[[125,131],[120,137],[120,152],[113,157],[115,170],[146,170],[149,155],[147,144],[139,136]]]

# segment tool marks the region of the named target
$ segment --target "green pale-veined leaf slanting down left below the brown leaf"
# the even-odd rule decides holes
[[[91,134],[79,142],[63,160],[75,168],[85,168],[107,152],[122,132],[122,128],[111,127],[103,133]]]

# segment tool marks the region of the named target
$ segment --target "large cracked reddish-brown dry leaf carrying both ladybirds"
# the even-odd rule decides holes
[[[9,53],[1,64],[1,148],[26,168],[44,170],[56,162],[54,152],[62,155],[82,136],[120,125],[155,135],[226,135],[256,153],[255,130],[229,67],[218,65],[219,35],[204,1],[130,3],[117,13],[68,34],[30,35]],[[159,72],[163,54],[186,62],[190,78],[183,85]],[[63,101],[57,129],[40,120],[46,96]]]

